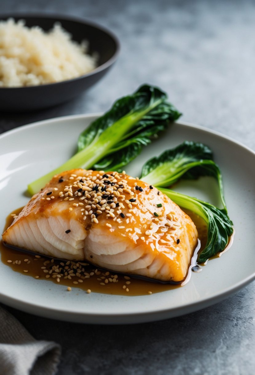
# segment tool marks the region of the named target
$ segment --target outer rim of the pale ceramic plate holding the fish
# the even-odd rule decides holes
[[[0,142],[6,136],[12,136],[12,134],[21,132],[22,130],[29,129],[31,127],[45,126],[48,123],[58,123],[63,120],[70,121],[70,120],[75,120],[75,119],[98,117],[100,115],[102,115],[102,113],[77,114],[77,115],[67,115],[67,116],[65,115],[65,116],[60,116],[60,117],[49,118],[46,120],[40,120],[40,121],[32,122],[29,124],[24,124],[22,126],[16,127],[15,129],[8,130],[0,134]],[[176,123],[182,126],[187,126],[187,127],[198,129],[206,134],[213,134],[220,138],[224,138],[225,140],[230,141],[231,143],[234,143],[235,145],[238,145],[239,147],[242,147],[246,151],[249,151],[252,154],[252,156],[255,156],[254,150],[247,147],[246,145],[243,145],[241,142],[236,141],[235,139],[227,135],[224,135],[218,131],[208,129],[203,126],[189,123],[186,121],[179,120],[179,121],[176,121]],[[135,318],[135,323],[142,323],[142,322],[149,322],[149,321],[172,318],[172,317],[176,317],[179,315],[185,315],[185,314],[189,314],[191,312],[197,311],[199,309],[206,308],[236,293],[236,291],[245,287],[254,279],[255,279],[255,271],[251,275],[247,276],[245,279],[242,279],[241,281],[236,282],[234,285],[231,285],[230,287],[224,288],[223,290],[221,290],[220,293],[218,291],[215,291],[210,296],[207,296],[207,297],[205,296],[199,301],[190,302],[185,306],[176,306],[175,308],[169,308],[168,306],[165,308],[160,308],[156,311],[148,311],[148,312],[147,311],[124,312],[123,311],[123,312],[118,312],[116,314],[114,314],[114,312],[96,312],[92,314],[91,312],[68,311],[62,308],[61,309],[58,309],[56,307],[52,308],[50,306],[41,306],[40,304],[33,304],[30,302],[18,300],[14,297],[7,296],[6,294],[3,294],[1,292],[0,292],[0,299],[1,299],[1,302],[6,303],[6,305],[12,306],[13,308],[20,309],[30,314],[31,313],[33,314],[34,312],[34,314],[36,315],[47,317],[47,318],[53,318],[53,319],[64,320],[64,321],[73,321],[77,323],[132,324],[134,323],[132,322],[132,318]],[[33,309],[33,312],[31,312],[31,309]],[[185,312],[182,312],[182,314],[179,314],[179,312],[183,310],[185,310]],[[107,321],[105,322],[102,321],[103,318],[105,318],[105,320]]]

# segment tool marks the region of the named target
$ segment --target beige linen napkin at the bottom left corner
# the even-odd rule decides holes
[[[54,375],[61,348],[52,341],[37,341],[0,307],[0,374]]]

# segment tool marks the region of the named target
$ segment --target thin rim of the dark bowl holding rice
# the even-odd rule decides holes
[[[105,69],[109,68],[117,60],[117,57],[119,56],[119,53],[120,53],[120,41],[119,41],[118,37],[112,31],[110,31],[107,27],[101,26],[100,24],[98,24],[94,21],[88,21],[88,20],[86,20],[86,18],[77,17],[77,16],[68,16],[68,15],[64,15],[64,14],[60,14],[60,13],[58,14],[58,13],[43,13],[43,12],[42,13],[36,13],[36,12],[31,12],[31,13],[30,12],[28,12],[28,13],[27,12],[26,13],[25,12],[0,13],[0,21],[7,20],[8,18],[20,18],[21,20],[22,19],[26,20],[26,18],[27,19],[38,18],[38,19],[44,19],[44,20],[58,19],[59,21],[61,21],[61,20],[63,20],[63,21],[73,21],[73,22],[85,24],[85,25],[97,28],[98,30],[103,31],[104,33],[108,34],[111,37],[111,39],[113,39],[113,41],[116,45],[116,51],[114,52],[112,57],[110,57],[109,60],[107,60],[105,63],[97,66],[95,69],[93,69],[93,71],[91,71],[89,73],[86,73],[86,74],[83,74],[79,77],[75,77],[75,78],[71,78],[70,80],[64,80],[64,81],[59,81],[59,82],[45,83],[45,84],[41,84],[41,85],[22,86],[22,87],[19,87],[19,86],[0,87],[0,90],[13,90],[13,89],[15,89],[15,90],[29,90],[29,89],[37,89],[38,87],[46,87],[46,86],[52,87],[52,85],[61,85],[61,84],[81,80],[83,78],[90,77],[90,76],[92,76],[96,73],[102,72]]]

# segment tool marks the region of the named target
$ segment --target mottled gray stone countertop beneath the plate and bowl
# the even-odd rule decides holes
[[[0,13],[59,10],[110,28],[120,39],[120,57],[96,86],[72,102],[35,113],[1,113],[0,132],[46,118],[105,111],[147,82],[169,94],[184,121],[255,150],[254,2],[0,3]],[[58,375],[255,373],[255,282],[201,311],[131,326],[64,323],[6,308],[36,339],[62,345]]]

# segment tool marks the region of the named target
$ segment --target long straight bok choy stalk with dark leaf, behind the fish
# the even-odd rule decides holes
[[[141,86],[133,95],[116,101],[110,111],[93,121],[80,134],[77,153],[29,184],[28,191],[37,193],[53,175],[68,169],[118,171],[180,115],[167,101],[166,93],[153,86]]]

